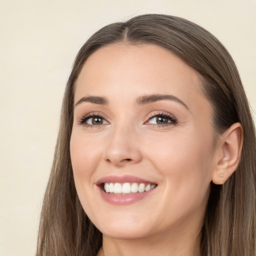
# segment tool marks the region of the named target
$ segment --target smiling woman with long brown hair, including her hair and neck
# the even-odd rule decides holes
[[[255,255],[255,133],[208,31],[107,25],[67,82],[37,255]]]

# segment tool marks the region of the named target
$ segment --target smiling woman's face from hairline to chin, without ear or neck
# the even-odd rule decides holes
[[[152,44],[107,45],[85,62],[70,154],[82,207],[104,235],[200,229],[216,159],[201,86],[195,70]]]

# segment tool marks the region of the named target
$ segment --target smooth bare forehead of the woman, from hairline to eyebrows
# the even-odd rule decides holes
[[[151,93],[207,101],[201,83],[193,68],[161,46],[116,43],[88,57],[76,81],[75,102],[90,94],[135,97]]]

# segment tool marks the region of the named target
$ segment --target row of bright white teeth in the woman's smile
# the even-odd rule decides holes
[[[104,190],[106,193],[115,194],[128,194],[136,192],[149,191],[156,187],[156,184],[144,184],[144,183],[104,183]]]

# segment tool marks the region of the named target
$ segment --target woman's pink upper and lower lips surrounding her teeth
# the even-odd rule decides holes
[[[136,183],[150,183],[150,184],[156,184],[155,182],[152,182],[150,180],[145,180],[136,176],[130,176],[130,175],[123,175],[123,176],[106,176],[103,178],[100,178],[97,182],[96,185],[98,187],[98,191],[100,193],[101,198],[114,205],[126,205],[126,204],[131,204],[134,202],[137,202],[148,195],[150,195],[156,188],[150,189],[148,191],[144,192],[136,192],[136,193],[129,193],[129,194],[114,194],[114,193],[106,193],[104,189],[102,189],[102,184],[106,182],[113,182],[113,183],[124,183],[124,182],[136,182]],[[157,184],[156,184],[157,185]]]

